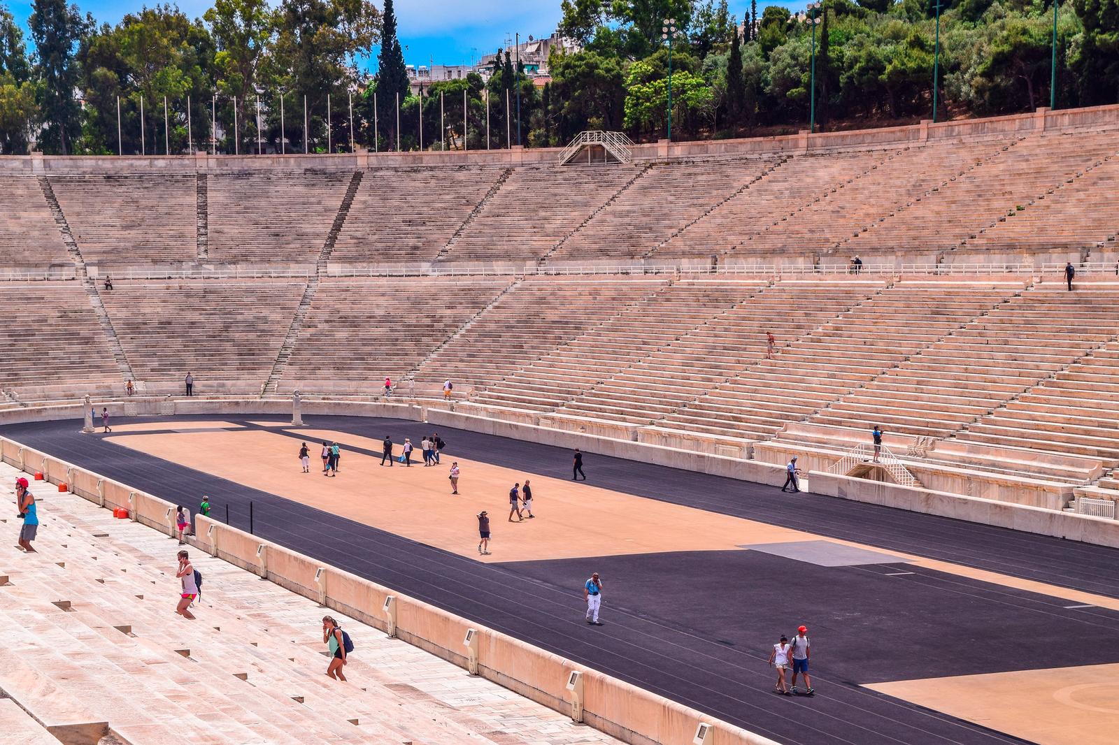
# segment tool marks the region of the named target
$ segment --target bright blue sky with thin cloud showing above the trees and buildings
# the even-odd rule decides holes
[[[97,22],[115,23],[124,13],[139,10],[145,3],[115,2],[113,0],[76,0],[82,12],[92,12]],[[150,0],[147,4],[156,4]],[[16,20],[26,29],[31,12],[29,0],[0,0],[8,4]],[[179,0],[177,3],[191,18],[201,16],[211,2],[207,0]],[[382,7],[380,0],[376,4]],[[803,6],[803,2],[770,0],[768,4]],[[731,12],[739,18],[749,7],[749,0],[732,0]],[[454,65],[477,60],[505,46],[505,38],[520,31],[523,36],[547,36],[555,30],[561,18],[560,0],[530,0],[529,2],[501,2],[495,0],[397,0],[396,16],[405,62],[411,65]]]

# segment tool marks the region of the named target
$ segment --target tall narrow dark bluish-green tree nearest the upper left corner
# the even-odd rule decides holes
[[[78,69],[74,63],[77,44],[93,25],[77,6],[66,0],[32,0],[28,26],[35,41],[35,75],[43,116],[41,145],[47,152],[69,154],[81,132],[82,109],[74,89]]]

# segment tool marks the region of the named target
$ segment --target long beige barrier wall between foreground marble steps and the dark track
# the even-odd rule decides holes
[[[167,511],[173,510],[175,506],[158,497],[47,456],[7,437],[0,438],[0,458],[28,472],[41,469],[50,483],[68,480],[75,494],[95,503],[130,507],[133,519],[144,525],[161,531],[170,527]],[[624,742],[634,745],[686,745],[692,743],[696,727],[705,723],[712,727],[707,739],[709,745],[777,745],[773,741],[261,540],[237,528],[196,516],[195,529],[197,536],[190,539],[195,547],[378,629],[387,629],[382,607],[385,597],[393,595],[395,633],[398,638],[468,669],[470,657],[463,641],[467,631],[473,629],[478,675],[563,714],[572,711],[565,685],[568,673],[577,671],[583,680],[583,720]]]

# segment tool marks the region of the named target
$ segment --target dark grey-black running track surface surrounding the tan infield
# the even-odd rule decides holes
[[[239,417],[184,419],[254,426]],[[307,421],[397,443],[433,430],[398,419]],[[175,428],[173,418],[114,423],[124,422]],[[927,567],[827,567],[754,550],[481,564],[78,430],[77,422],[40,422],[0,434],[169,501],[192,507],[210,494],[213,516],[224,518],[228,507],[239,528],[248,528],[252,501],[253,529],[265,539],[789,745],[1023,742],[862,685],[1084,663],[1070,657],[1080,647],[1070,640],[1093,640],[1089,662],[1119,661],[1117,612],[1068,609],[1070,601]],[[571,451],[438,431],[444,455],[571,478]],[[584,463],[587,482],[601,488],[1119,597],[1119,550],[590,453]],[[546,499],[536,502],[546,520]],[[581,586],[592,570],[605,583],[601,628],[583,621]],[[817,695],[779,697],[765,660],[799,623],[810,629]]]

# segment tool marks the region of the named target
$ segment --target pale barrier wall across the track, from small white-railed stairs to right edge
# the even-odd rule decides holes
[[[811,471],[808,478],[814,494],[1119,548],[1119,521],[1116,520],[852,479],[825,471]]]

